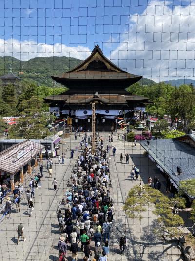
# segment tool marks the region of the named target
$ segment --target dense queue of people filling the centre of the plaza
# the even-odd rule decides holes
[[[83,261],[108,261],[115,215],[108,189],[109,172],[107,152],[100,137],[95,151],[85,145],[78,157],[71,175],[72,188],[65,193],[64,210],[58,211],[59,261],[68,260],[67,248],[72,253],[71,261],[77,261],[79,247],[84,252]],[[126,239],[124,235],[121,237],[118,241],[122,253]]]

